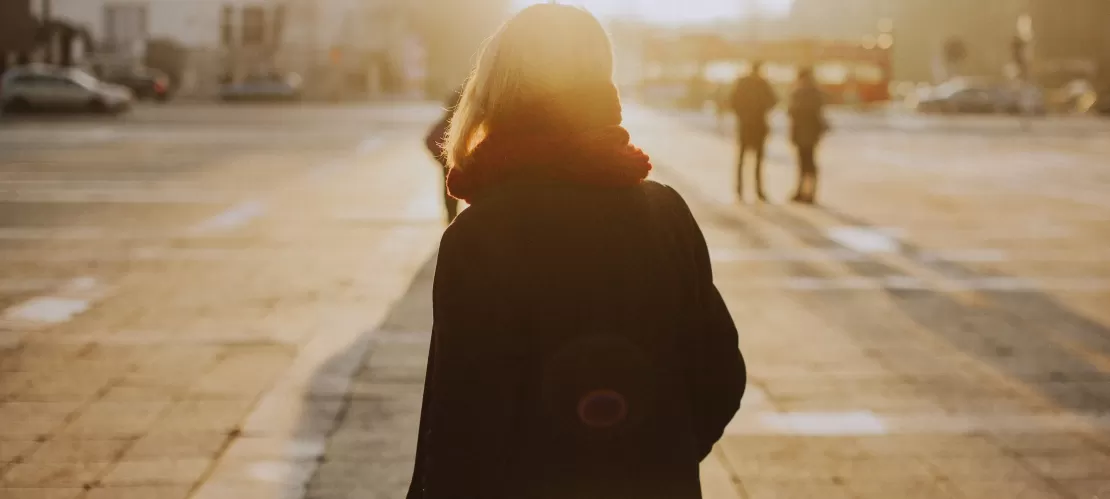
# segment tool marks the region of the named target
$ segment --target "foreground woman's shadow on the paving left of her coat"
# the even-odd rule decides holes
[[[329,432],[319,467],[307,482],[310,499],[396,499],[412,477],[424,370],[432,332],[432,281],[436,255],[413,278],[370,342]],[[337,355],[319,373],[326,384]],[[350,365],[350,364],[349,364]],[[342,368],[340,368],[342,370]],[[310,395],[311,396],[311,395]],[[312,418],[305,421],[311,424]]]

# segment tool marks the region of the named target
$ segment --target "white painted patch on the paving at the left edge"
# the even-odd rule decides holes
[[[88,312],[105,295],[107,289],[95,278],[70,279],[49,295],[36,296],[4,309],[0,315],[0,327],[39,329],[67,323]]]

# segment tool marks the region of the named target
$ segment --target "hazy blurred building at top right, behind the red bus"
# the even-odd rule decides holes
[[[874,35],[889,20],[895,78],[930,81],[952,73],[1006,75],[1022,16],[1032,21],[1035,65],[1107,59],[1107,0],[795,0],[791,24],[797,35],[851,39]],[[967,47],[957,67],[942,58],[944,44],[953,39]]]

